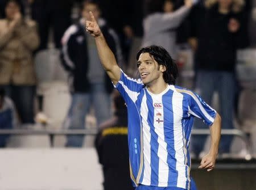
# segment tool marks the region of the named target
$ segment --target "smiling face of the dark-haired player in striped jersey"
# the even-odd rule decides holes
[[[163,65],[158,65],[149,53],[142,53],[137,63],[139,74],[144,85],[152,85],[159,79],[163,79]]]

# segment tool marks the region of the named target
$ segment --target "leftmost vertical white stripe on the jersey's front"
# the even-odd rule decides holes
[[[143,171],[143,185],[150,185],[151,183],[151,154],[150,154],[150,126],[147,123],[148,116],[148,107],[147,107],[147,98],[144,94],[141,103],[141,116],[142,116],[142,129],[143,129],[143,156],[144,156],[144,171]]]

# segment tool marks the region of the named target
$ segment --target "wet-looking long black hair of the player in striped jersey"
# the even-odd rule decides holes
[[[137,61],[142,53],[149,53],[159,65],[165,66],[166,71],[163,72],[164,82],[168,83],[169,85],[175,85],[178,74],[177,65],[166,49],[157,45],[144,47],[137,53]]]

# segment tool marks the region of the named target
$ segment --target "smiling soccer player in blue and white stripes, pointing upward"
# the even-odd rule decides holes
[[[211,171],[216,162],[221,118],[199,95],[174,86],[177,66],[158,46],[137,54],[141,80],[119,68],[92,12],[86,31],[94,36],[102,66],[125,99],[128,111],[130,175],[137,190],[195,189],[191,185],[188,153],[193,117],[210,126],[210,150],[199,168]]]

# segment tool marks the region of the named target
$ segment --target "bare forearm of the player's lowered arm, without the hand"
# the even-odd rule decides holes
[[[210,126],[210,151],[209,154],[218,154],[218,145],[221,138],[221,117],[216,115],[212,126]]]

